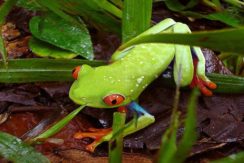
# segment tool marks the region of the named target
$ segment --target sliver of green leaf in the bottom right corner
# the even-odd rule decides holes
[[[243,162],[243,160],[244,160],[244,152],[240,152],[216,161],[211,161],[210,163],[241,163]]]

